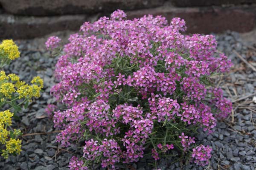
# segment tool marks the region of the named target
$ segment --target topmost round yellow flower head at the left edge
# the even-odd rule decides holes
[[[20,57],[18,46],[13,42],[13,40],[3,40],[2,44],[0,44],[0,49],[2,49],[3,54],[11,60]]]

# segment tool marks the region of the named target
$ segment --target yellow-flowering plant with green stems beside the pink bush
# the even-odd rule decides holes
[[[21,111],[21,106],[27,108],[33,97],[40,97],[43,80],[34,77],[31,85],[20,80],[16,74],[6,75],[3,71],[5,65],[20,57],[18,46],[13,40],[3,40],[0,44],[0,155],[8,158],[9,155],[20,154],[22,133],[18,129],[12,129],[12,117]],[[3,106],[9,106],[9,110],[3,111]],[[12,113],[10,110],[14,110]]]

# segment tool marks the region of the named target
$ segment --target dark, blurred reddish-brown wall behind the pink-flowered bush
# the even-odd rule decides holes
[[[248,32],[256,25],[256,0],[0,0],[0,39],[78,30],[84,21],[118,8],[129,19],[145,14],[181,17],[187,33]]]

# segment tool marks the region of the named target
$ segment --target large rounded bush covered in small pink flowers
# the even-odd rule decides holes
[[[177,157],[174,150],[183,160],[208,164],[212,149],[197,146],[195,134],[199,127],[211,133],[217,119],[231,112],[211,78],[231,62],[217,52],[214,36],[185,36],[185,30],[180,18],[170,24],[152,15],[126,20],[117,10],[70,36],[51,93],[66,106],[54,111],[55,127],[62,129],[57,141],[64,147],[83,143],[71,170],[93,162],[115,169],[146,154]],[[48,42],[52,49],[60,41]]]

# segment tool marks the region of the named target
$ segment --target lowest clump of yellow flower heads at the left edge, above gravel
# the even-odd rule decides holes
[[[6,128],[12,125],[12,116],[13,113],[9,110],[0,112],[0,143],[6,145],[6,149],[2,150],[1,155],[6,159],[9,154],[20,154],[21,151],[21,140],[16,139],[16,137],[21,134],[20,130],[15,129],[13,132],[13,138],[8,140],[10,132]]]

